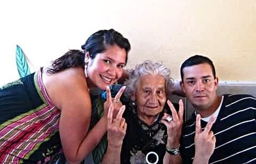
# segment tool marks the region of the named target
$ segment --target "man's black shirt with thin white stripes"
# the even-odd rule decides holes
[[[242,94],[223,96],[220,112],[211,129],[216,144],[209,163],[256,163],[256,98]],[[183,127],[183,163],[192,163],[194,159],[195,122],[196,115],[192,114]],[[202,128],[206,124],[201,120]]]

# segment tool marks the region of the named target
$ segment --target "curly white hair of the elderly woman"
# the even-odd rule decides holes
[[[173,79],[170,77],[170,69],[163,62],[153,62],[146,60],[141,64],[136,65],[135,69],[128,71],[128,79],[125,81],[125,94],[130,97],[137,90],[137,84],[141,76],[145,75],[162,75],[165,79],[165,91],[168,97],[172,93]]]

